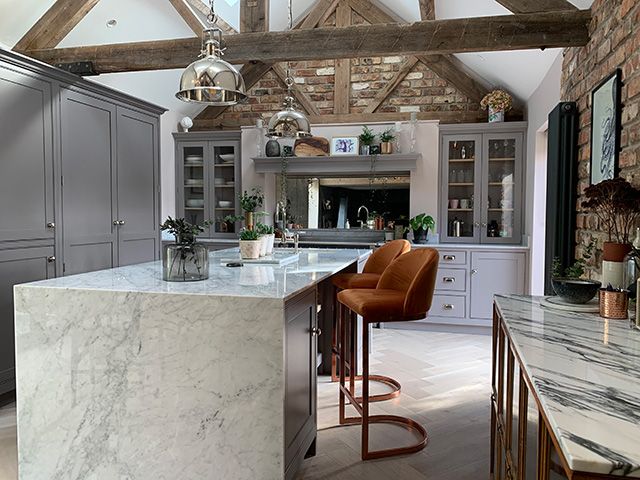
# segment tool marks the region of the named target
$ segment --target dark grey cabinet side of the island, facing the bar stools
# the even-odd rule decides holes
[[[292,479],[317,434],[317,300],[312,288],[285,306],[285,478]]]

